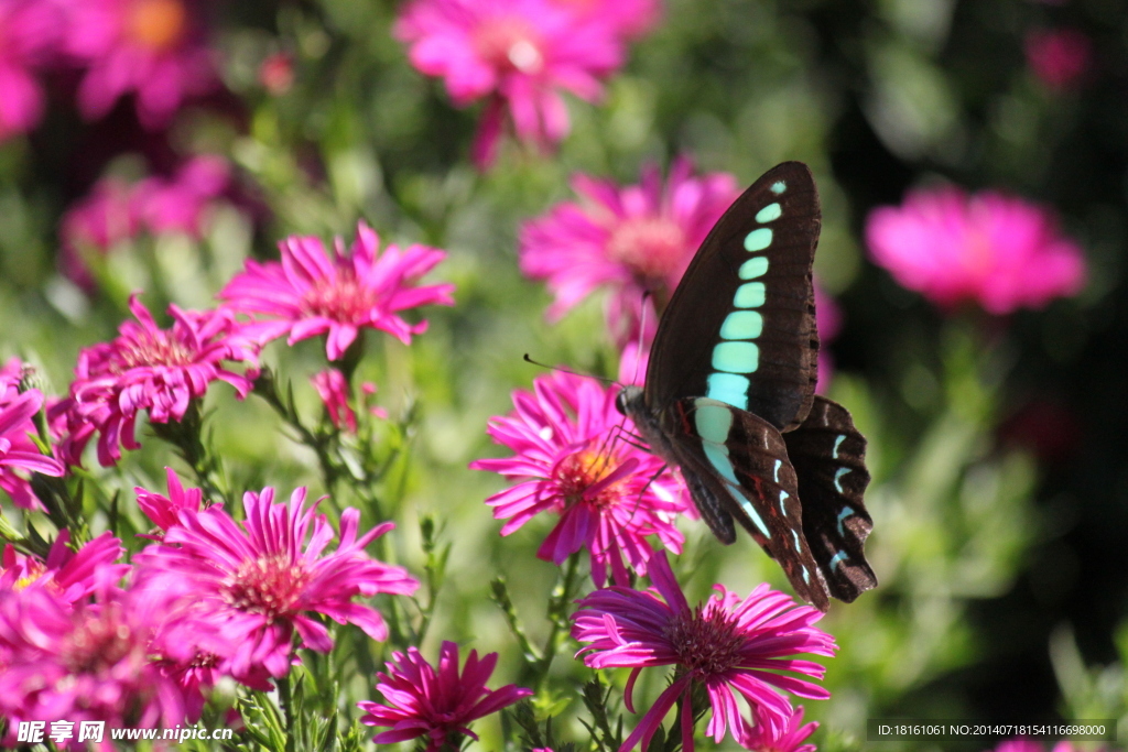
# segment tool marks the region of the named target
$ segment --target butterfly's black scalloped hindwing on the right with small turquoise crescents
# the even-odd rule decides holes
[[[803,532],[830,594],[851,602],[878,584],[864,551],[873,529],[862,498],[870,483],[865,439],[845,407],[821,396],[783,437],[799,476]]]

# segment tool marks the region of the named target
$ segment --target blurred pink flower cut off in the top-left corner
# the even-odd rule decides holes
[[[52,3],[0,0],[0,142],[43,117],[43,90],[33,70],[51,57],[59,29]]]

